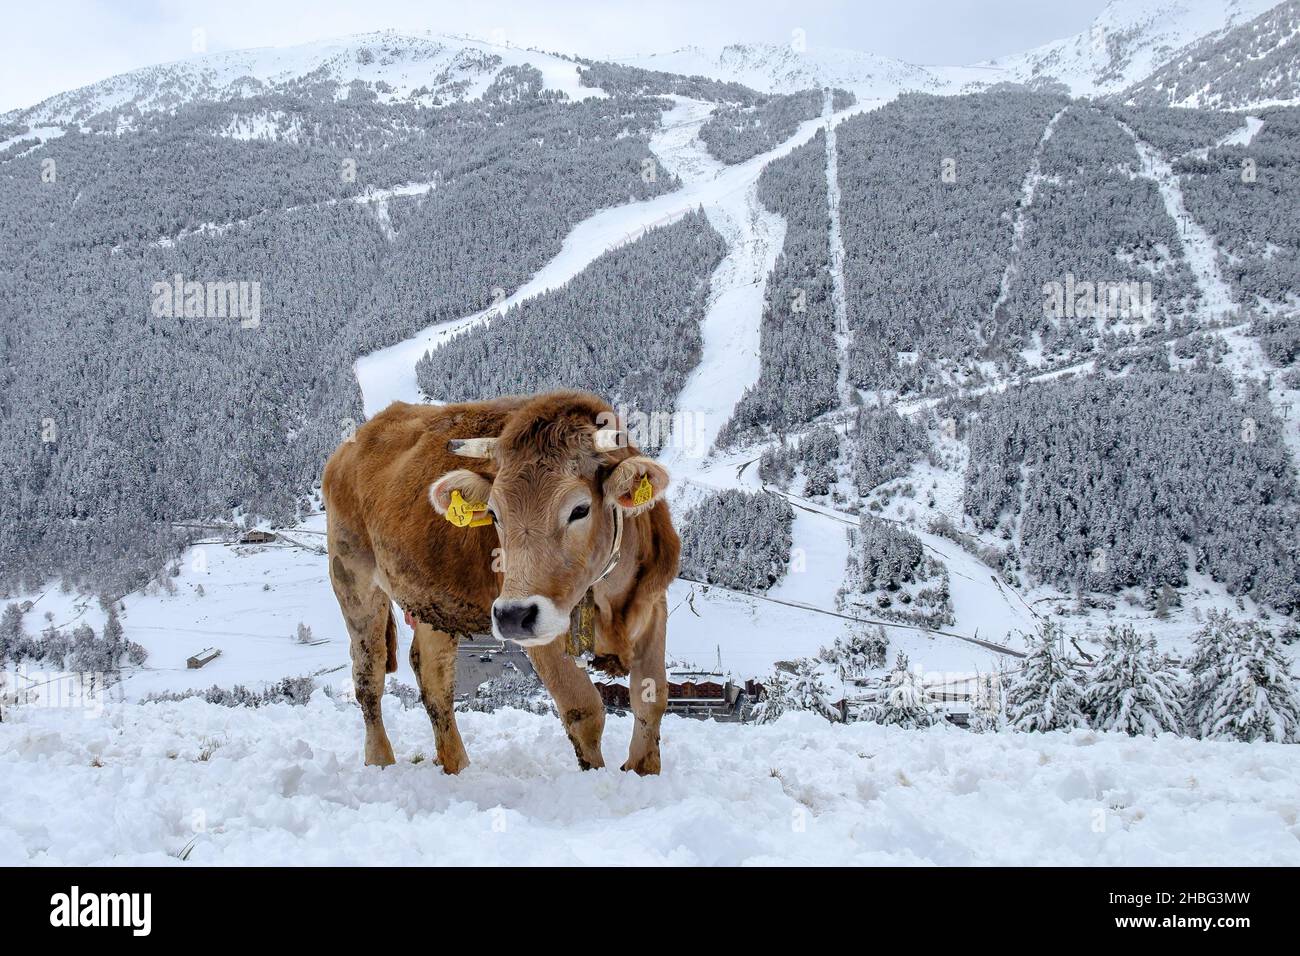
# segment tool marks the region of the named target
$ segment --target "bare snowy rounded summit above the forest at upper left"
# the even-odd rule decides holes
[[[602,96],[578,85],[577,64],[562,56],[463,36],[360,34],[296,47],[207,53],[146,66],[61,92],[3,118],[29,126],[81,124],[109,111],[169,111],[195,100],[277,92],[304,83],[374,85],[381,99],[425,105],[472,100],[508,66],[530,64],[547,90],[571,99]]]

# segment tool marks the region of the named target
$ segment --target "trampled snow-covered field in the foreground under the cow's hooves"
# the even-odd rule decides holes
[[[581,773],[558,719],[460,718],[432,763],[385,701],[398,762],[361,765],[355,706],[199,701],[0,724],[0,865],[1300,865],[1300,762],[1279,744],[1093,732],[980,736],[668,717],[664,773]],[[632,719],[611,717],[621,760]],[[192,843],[192,845],[190,845]]]

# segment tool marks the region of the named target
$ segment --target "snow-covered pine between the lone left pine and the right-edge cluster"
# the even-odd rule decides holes
[[[1101,659],[1084,691],[1084,708],[1095,730],[1130,736],[1179,734],[1182,691],[1179,675],[1160,656],[1156,640],[1124,624],[1106,632]]]

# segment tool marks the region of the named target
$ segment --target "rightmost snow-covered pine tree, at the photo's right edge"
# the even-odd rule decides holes
[[[1212,613],[1191,659],[1188,730],[1200,737],[1300,740],[1300,692],[1287,657],[1258,622]]]

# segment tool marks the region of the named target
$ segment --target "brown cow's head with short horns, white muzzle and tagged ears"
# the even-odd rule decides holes
[[[486,502],[503,574],[493,632],[524,645],[568,633],[573,607],[614,553],[620,520],[653,507],[668,486],[668,472],[628,446],[608,406],[585,393],[540,395],[499,436],[450,447],[481,470],[443,475],[429,498],[443,515],[454,492]]]

